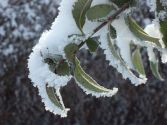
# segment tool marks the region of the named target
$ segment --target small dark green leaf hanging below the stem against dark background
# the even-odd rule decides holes
[[[95,52],[98,48],[98,43],[92,38],[86,40],[86,45],[91,52]]]

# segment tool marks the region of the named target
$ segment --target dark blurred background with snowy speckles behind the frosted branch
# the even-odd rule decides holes
[[[150,23],[144,0],[142,14],[134,17]],[[28,79],[27,59],[40,34],[49,29],[58,14],[59,0],[0,0],[0,125],[167,125],[167,65],[160,65],[164,82],[155,79],[143,52],[149,78],[135,87],[108,66],[103,50],[91,55],[81,50],[83,68],[106,87],[116,86],[112,98],[86,95],[71,80],[62,89],[67,118],[45,111],[37,88]]]

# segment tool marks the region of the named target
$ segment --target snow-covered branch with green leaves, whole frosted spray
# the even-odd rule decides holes
[[[104,50],[109,65],[138,86],[147,81],[141,49],[146,48],[152,74],[159,80],[159,60],[167,62],[167,2],[147,0],[155,19],[144,29],[133,19],[138,0],[62,0],[59,15],[45,31],[28,60],[29,78],[39,89],[46,110],[67,116],[60,89],[74,78],[86,94],[111,97],[118,88],[98,84],[80,65],[76,53]]]

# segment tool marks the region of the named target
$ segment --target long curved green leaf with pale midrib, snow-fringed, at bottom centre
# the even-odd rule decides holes
[[[107,94],[114,91],[114,90],[104,88],[103,86],[100,86],[92,77],[86,74],[82,69],[82,67],[80,66],[80,62],[77,59],[77,57],[75,58],[74,76],[75,76],[75,79],[78,81],[79,86],[81,86],[81,88],[86,89],[87,91],[91,91],[92,94],[93,92],[99,93],[99,94],[100,93]]]

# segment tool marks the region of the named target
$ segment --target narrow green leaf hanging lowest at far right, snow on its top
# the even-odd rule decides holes
[[[159,70],[158,70],[158,61],[157,62],[150,61],[150,68],[151,68],[153,75],[157,79],[164,81],[164,79],[162,78],[162,76],[160,75]]]

